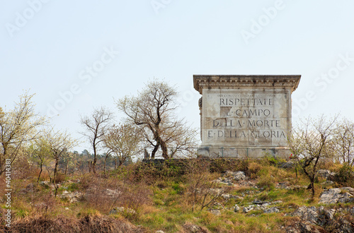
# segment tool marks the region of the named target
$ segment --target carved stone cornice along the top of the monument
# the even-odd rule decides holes
[[[300,75],[193,75],[195,90],[215,88],[282,88],[290,87],[292,92],[299,85]]]

